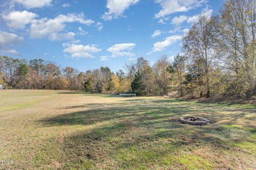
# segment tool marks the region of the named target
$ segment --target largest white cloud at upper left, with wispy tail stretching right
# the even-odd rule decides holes
[[[66,28],[65,23],[79,22],[85,25],[94,23],[93,20],[84,19],[83,14],[67,14],[59,15],[54,19],[43,18],[40,20],[31,21],[30,25],[30,38],[45,38],[48,37],[50,40],[63,39],[58,36],[63,36],[63,30]],[[55,37],[55,38],[52,38]],[[64,39],[73,38],[73,33],[65,33]]]

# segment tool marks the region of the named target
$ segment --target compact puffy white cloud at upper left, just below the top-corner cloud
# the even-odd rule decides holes
[[[28,11],[15,11],[7,15],[3,15],[7,26],[13,29],[24,29],[26,24],[30,23],[38,15]]]

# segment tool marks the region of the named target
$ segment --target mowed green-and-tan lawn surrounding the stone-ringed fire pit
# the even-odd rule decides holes
[[[0,169],[256,169],[255,105],[1,90],[0,133]]]

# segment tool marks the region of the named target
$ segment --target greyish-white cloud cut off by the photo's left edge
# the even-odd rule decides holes
[[[18,55],[19,53],[12,49],[12,45],[20,44],[23,41],[22,37],[5,31],[0,31],[0,50],[4,53]]]

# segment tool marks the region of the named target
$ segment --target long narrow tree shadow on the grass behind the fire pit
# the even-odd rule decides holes
[[[129,102],[128,102],[129,101]],[[226,123],[233,124],[238,119],[253,121],[256,120],[254,109],[229,108],[222,105],[202,105],[197,103],[177,104],[176,100],[157,102],[151,99],[125,100],[119,103],[89,103],[84,105],[69,106],[62,109],[87,108],[84,111],[57,115],[45,118],[39,122],[47,126],[80,124],[88,125],[102,121],[132,117],[135,123],[153,121],[163,118],[178,118],[185,115],[203,116],[218,123],[226,120]],[[90,109],[93,108],[93,109]],[[247,115],[251,116],[247,116]]]

